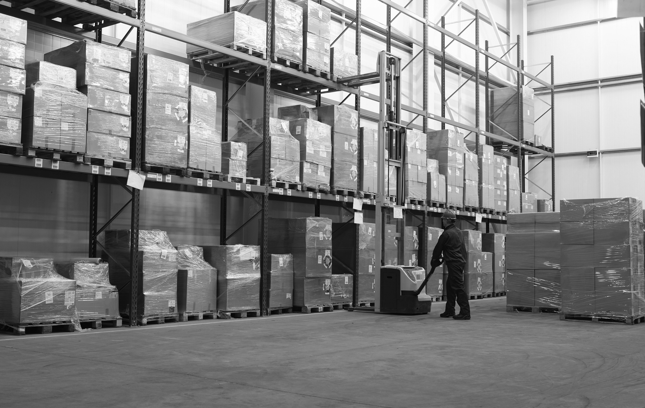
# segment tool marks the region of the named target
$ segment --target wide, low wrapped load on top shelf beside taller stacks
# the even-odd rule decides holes
[[[245,8],[249,6],[246,5]],[[230,12],[210,19],[189,23],[186,34],[222,46],[243,46],[266,51],[266,23],[261,19],[238,12]],[[186,44],[186,53],[210,53],[201,47]]]

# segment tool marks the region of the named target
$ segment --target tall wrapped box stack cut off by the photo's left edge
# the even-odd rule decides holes
[[[1,15],[0,30],[0,144],[21,144],[23,95],[25,95],[25,44],[27,22]]]

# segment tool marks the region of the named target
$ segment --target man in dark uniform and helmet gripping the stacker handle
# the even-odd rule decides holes
[[[439,266],[443,262],[448,267],[448,281],[446,281],[446,292],[448,301],[446,311],[441,317],[452,317],[457,320],[470,320],[470,305],[468,294],[464,287],[464,266],[466,266],[466,246],[461,235],[461,230],[455,225],[457,217],[453,210],[446,210],[441,217],[444,232],[437,241],[437,246],[432,252],[430,266]],[[443,253],[443,256],[442,256]],[[455,298],[459,304],[459,315],[455,315]]]

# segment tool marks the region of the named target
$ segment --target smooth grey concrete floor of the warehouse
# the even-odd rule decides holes
[[[644,407],[645,324],[472,301],[473,320],[334,311],[0,335],[6,407]],[[5,405],[6,404],[6,405]]]

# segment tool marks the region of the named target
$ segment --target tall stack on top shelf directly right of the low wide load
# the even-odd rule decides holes
[[[239,11],[250,15],[253,19],[266,21],[266,1],[264,0],[245,2],[243,5],[231,7],[231,11]],[[274,0],[272,17],[271,58],[273,60],[282,58],[301,64],[303,62],[303,8],[289,0]],[[263,35],[266,41],[266,25]]]

